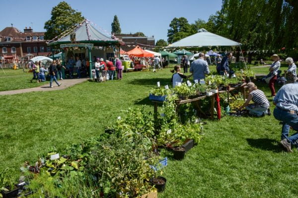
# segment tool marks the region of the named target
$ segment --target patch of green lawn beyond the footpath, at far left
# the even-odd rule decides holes
[[[4,72],[2,69],[0,69],[0,91],[26,89],[49,83],[36,83],[35,80],[33,83],[30,83],[33,73],[23,72],[22,69],[4,69]]]

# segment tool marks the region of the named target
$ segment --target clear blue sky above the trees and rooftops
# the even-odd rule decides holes
[[[61,0],[1,0],[0,30],[25,26],[42,32],[50,19],[52,7]],[[167,29],[174,17],[185,17],[189,23],[201,18],[208,20],[221,9],[222,0],[65,0],[84,17],[111,31],[114,15],[118,16],[123,33],[143,32],[167,40]]]

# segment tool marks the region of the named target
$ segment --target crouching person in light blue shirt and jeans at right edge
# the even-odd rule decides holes
[[[281,144],[288,152],[293,152],[291,146],[298,146],[298,132],[289,137],[290,127],[298,131],[298,78],[293,76],[288,80],[273,99],[276,106],[273,115],[283,122]]]

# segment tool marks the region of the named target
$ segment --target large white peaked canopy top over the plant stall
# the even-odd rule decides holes
[[[213,47],[213,46],[239,46],[238,42],[226,39],[222,36],[208,32],[204,28],[198,30],[198,33],[185,37],[168,47]]]

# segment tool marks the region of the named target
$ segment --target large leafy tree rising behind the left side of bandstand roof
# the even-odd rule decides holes
[[[62,32],[83,21],[81,12],[75,11],[67,2],[62,1],[53,7],[51,19],[45,23],[45,39],[51,40]]]

